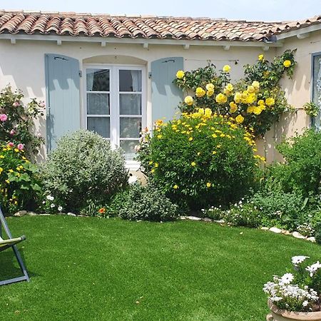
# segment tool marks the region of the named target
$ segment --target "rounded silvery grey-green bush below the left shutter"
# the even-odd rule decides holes
[[[72,212],[78,212],[90,200],[106,202],[128,180],[121,151],[113,151],[108,141],[85,130],[58,141],[43,165],[42,175],[46,190]]]

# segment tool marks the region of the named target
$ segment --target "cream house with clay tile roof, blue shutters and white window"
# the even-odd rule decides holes
[[[0,88],[11,84],[46,103],[36,131],[46,138],[41,157],[67,131],[88,128],[121,146],[136,168],[141,128],[178,113],[183,93],[176,71],[213,63],[232,67],[232,79],[259,54],[267,60],[297,49],[291,81],[282,80],[297,113],[285,115],[258,142],[267,161],[275,143],[310,126],[304,103],[320,103],[321,16],[290,23],[153,16],[0,11]],[[317,119],[318,125],[320,121]]]

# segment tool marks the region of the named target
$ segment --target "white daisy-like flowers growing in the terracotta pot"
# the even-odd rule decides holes
[[[317,261],[307,265],[307,258],[294,256],[293,273],[275,276],[272,282],[264,285],[263,291],[280,309],[297,312],[320,310],[321,264]]]

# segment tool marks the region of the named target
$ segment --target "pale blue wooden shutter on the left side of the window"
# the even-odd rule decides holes
[[[75,58],[45,55],[47,93],[47,149],[68,131],[80,128],[80,71]]]

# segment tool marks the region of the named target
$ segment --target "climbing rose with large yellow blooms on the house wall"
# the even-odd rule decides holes
[[[285,51],[275,57],[273,63],[260,55],[255,65],[245,66],[245,78],[234,84],[230,81],[228,65],[219,74],[213,65],[195,71],[178,71],[174,82],[188,95],[180,109],[191,112],[210,108],[253,127],[256,137],[263,136],[281,113],[291,110],[278,83],[284,73],[292,76],[295,64],[294,51]]]

